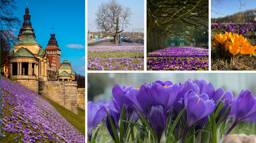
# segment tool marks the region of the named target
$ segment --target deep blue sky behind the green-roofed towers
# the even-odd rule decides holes
[[[15,1],[18,10],[14,11],[14,15],[23,21],[27,0]],[[61,62],[67,57],[72,69],[85,75],[85,1],[29,0],[28,8],[37,43],[43,49],[46,47],[52,33],[50,28],[54,25],[55,37],[61,49]],[[20,28],[15,35],[19,34]],[[66,47],[68,44],[71,44],[69,48]]]

